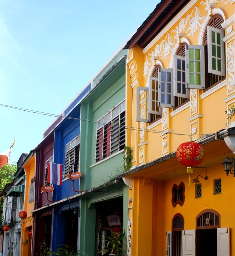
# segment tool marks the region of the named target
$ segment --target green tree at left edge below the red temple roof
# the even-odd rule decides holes
[[[0,191],[2,191],[5,186],[12,182],[14,179],[14,174],[17,171],[17,164],[5,164],[0,169]],[[0,220],[2,220],[2,211],[3,211],[3,197],[0,196]]]

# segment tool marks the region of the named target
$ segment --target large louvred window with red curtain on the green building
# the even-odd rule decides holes
[[[125,101],[98,120],[96,162],[124,149],[126,142]]]

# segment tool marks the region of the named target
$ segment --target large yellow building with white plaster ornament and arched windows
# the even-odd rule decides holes
[[[126,45],[128,255],[235,256],[234,2],[162,0]],[[187,140],[205,151],[190,186]]]

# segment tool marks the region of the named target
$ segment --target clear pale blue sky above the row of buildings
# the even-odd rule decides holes
[[[0,104],[60,114],[159,0],[0,0]],[[0,106],[0,152],[29,153],[55,118]]]

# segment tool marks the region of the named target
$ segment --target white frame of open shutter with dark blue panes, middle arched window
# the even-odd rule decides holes
[[[177,60],[180,60],[180,62],[181,62],[181,69],[180,70],[178,70]],[[185,61],[185,70],[183,70],[183,68],[182,68],[182,64],[183,64],[182,61]],[[180,72],[181,80],[182,80],[182,73],[183,72],[185,73],[186,94],[183,93],[183,81],[178,81],[178,71]],[[180,83],[182,93],[178,93],[178,82]],[[178,56],[178,55],[174,55],[174,96],[181,97],[181,98],[186,98],[186,99],[190,98],[189,89],[187,88],[187,85],[186,85],[186,60],[185,60],[185,57]]]

